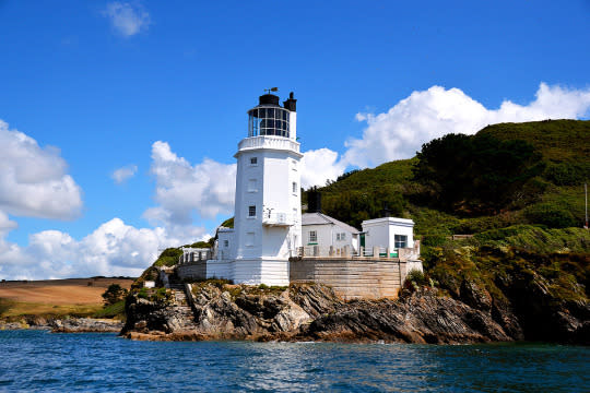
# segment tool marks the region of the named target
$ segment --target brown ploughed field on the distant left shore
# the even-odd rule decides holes
[[[0,319],[19,315],[91,315],[103,308],[110,284],[129,289],[132,278],[68,278],[0,283]]]

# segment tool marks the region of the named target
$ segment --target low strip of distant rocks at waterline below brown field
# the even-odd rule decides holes
[[[0,330],[47,330],[52,333],[119,333],[123,322],[109,319],[26,317],[19,322],[0,322]]]

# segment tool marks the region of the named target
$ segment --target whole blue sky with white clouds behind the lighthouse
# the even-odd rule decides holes
[[[589,49],[588,0],[0,0],[0,278],[137,276],[214,235],[264,88],[298,99],[307,188],[588,119]]]

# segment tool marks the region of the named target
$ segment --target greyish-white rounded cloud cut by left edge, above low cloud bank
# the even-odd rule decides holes
[[[37,142],[0,120],[0,211],[7,214],[71,219],[80,214],[80,187],[55,147]]]

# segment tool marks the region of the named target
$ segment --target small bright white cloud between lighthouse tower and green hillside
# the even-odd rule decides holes
[[[344,172],[346,164],[338,159],[338,153],[329,148],[307,151],[302,158],[302,187],[324,186]]]

